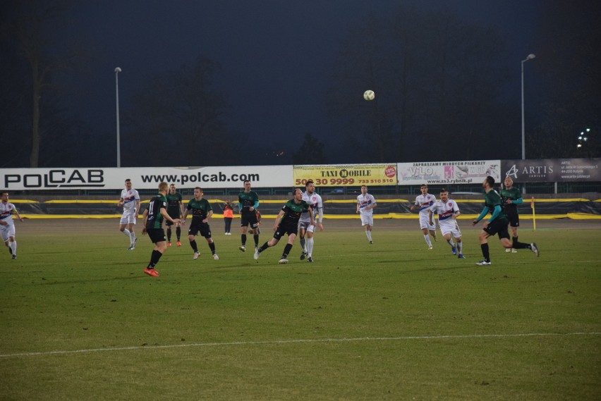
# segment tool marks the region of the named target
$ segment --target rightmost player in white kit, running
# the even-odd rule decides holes
[[[466,259],[466,257],[463,256],[461,230],[459,230],[459,225],[456,220],[461,212],[459,211],[457,202],[453,199],[449,199],[449,191],[442,188],[442,190],[440,190],[440,200],[434,202],[427,211],[428,218],[430,219],[428,223],[430,224],[434,224],[434,214],[438,214],[438,226],[440,227],[440,232],[449,245],[451,245],[451,252],[453,252],[454,255],[457,255],[459,259]],[[455,238],[456,244],[453,242],[451,235]]]

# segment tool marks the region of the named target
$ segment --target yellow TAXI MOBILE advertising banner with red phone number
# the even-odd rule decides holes
[[[396,185],[396,163],[294,166],[293,185],[313,180],[318,187]]]

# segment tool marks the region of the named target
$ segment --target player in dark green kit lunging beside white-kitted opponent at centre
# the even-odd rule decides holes
[[[301,214],[310,210],[310,207],[307,202],[303,201],[303,191],[299,189],[294,190],[294,198],[284,204],[276,217],[274,237],[269,242],[265,242],[262,247],[255,249],[255,260],[259,259],[261,252],[265,251],[268,247],[273,247],[284,234],[288,234],[288,243],[284,247],[281,259],[278,261],[279,264],[288,263],[286,257],[290,254],[296,234],[298,233],[298,220],[301,219]],[[309,217],[311,224],[315,225],[313,214],[310,213]]]

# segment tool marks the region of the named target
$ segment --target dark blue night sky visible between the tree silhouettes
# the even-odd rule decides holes
[[[506,41],[503,52],[509,79],[502,95],[515,101],[514,118],[519,122],[521,60],[537,53],[538,16],[545,1],[430,0],[414,4],[424,10],[446,7],[468,23],[495,27]],[[387,16],[398,6],[399,0],[76,1],[67,32],[89,44],[94,59],[87,61],[85,68],[61,73],[55,79],[71,91],[66,109],[86,121],[95,135],[106,135],[110,141],[116,131],[116,67],[122,69],[119,101],[123,121],[133,93],[150,75],[207,56],[223,68],[215,75],[215,86],[231,104],[224,116],[231,132],[253,137],[268,151],[284,146],[286,135],[305,132],[329,147],[340,138],[331,135],[324,92],[341,40],[370,13]],[[540,63],[545,63],[542,55],[526,68],[530,97],[535,94],[532,87],[549,85],[537,78]],[[362,92],[356,97],[363,101]],[[530,101],[529,108],[538,103]],[[535,119],[538,111],[530,109]],[[515,130],[519,137],[519,125]],[[127,135],[123,126],[122,135]],[[519,154],[502,156],[518,158]],[[454,159],[453,155],[449,159]],[[256,164],[263,163],[257,160]],[[127,166],[126,161],[123,165]]]

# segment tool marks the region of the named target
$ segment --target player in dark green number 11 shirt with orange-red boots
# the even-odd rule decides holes
[[[167,183],[159,184],[159,195],[155,195],[150,199],[148,209],[143,213],[144,216],[144,227],[142,228],[142,235],[148,234],[150,240],[154,243],[154,249],[152,249],[152,255],[150,256],[150,263],[144,270],[148,276],[159,276],[159,273],[154,270],[154,266],[159,263],[159,259],[163,256],[163,253],[167,249],[165,242],[165,232],[163,230],[163,219],[171,221],[171,223],[179,223],[179,218],[171,218],[167,214]]]

